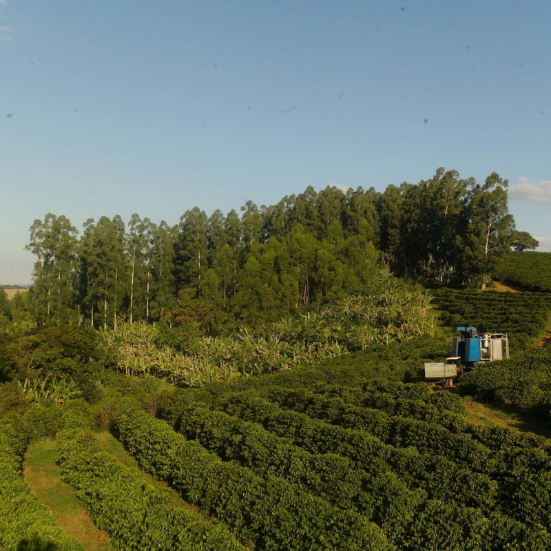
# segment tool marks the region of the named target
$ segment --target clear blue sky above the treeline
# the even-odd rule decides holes
[[[0,0],[0,283],[48,212],[178,223],[437,167],[551,251],[549,0]]]

